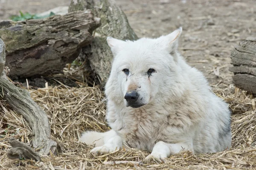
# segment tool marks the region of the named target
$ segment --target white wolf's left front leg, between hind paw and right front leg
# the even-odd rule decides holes
[[[120,147],[122,147],[122,139],[116,134],[114,130],[105,132],[102,137],[103,144],[93,148],[90,151],[90,153],[92,153],[93,155],[104,155],[106,153],[118,150]]]

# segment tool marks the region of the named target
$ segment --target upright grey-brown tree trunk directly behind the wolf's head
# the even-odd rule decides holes
[[[113,55],[106,37],[120,40],[137,40],[137,35],[128,23],[123,11],[115,0],[72,0],[69,12],[91,9],[96,17],[101,18],[101,26],[96,29],[95,38],[90,45],[82,49],[81,56],[88,59],[90,68],[104,87],[111,71]]]

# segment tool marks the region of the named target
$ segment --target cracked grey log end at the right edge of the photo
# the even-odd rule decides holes
[[[247,38],[231,52],[230,71],[233,83],[242,90],[256,94],[256,38]]]

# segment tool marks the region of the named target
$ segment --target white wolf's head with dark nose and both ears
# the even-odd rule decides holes
[[[179,28],[157,39],[136,41],[108,37],[114,55],[105,87],[108,99],[140,108],[172,94],[171,89],[177,88],[177,45],[181,32],[182,28]]]

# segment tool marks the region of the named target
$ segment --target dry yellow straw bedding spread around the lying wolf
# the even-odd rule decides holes
[[[233,111],[231,150],[201,155],[184,151],[171,156],[165,164],[142,164],[141,161],[149,152],[137,149],[122,149],[99,157],[90,156],[92,146],[80,143],[78,138],[84,130],[108,130],[105,124],[104,93],[97,86],[70,88],[60,85],[29,90],[32,98],[49,117],[52,138],[60,146],[58,155],[43,156],[40,163],[8,159],[6,153],[11,137],[31,144],[33,136],[23,117],[1,101],[0,169],[256,169],[256,147],[251,146],[256,139],[255,99],[245,91],[221,83],[212,85],[212,88],[215,94],[230,104]]]

